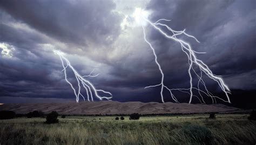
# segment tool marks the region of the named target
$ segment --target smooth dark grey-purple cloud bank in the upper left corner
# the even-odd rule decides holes
[[[112,1],[2,1],[2,10],[36,30],[68,43],[112,42],[121,17]]]

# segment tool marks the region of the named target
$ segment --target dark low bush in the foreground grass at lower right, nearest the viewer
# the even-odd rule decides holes
[[[212,132],[204,126],[187,125],[180,129],[179,134],[190,137],[194,143],[210,144],[213,140]]]

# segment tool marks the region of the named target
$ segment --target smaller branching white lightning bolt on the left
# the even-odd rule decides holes
[[[78,103],[79,102],[79,97],[83,97],[84,101],[85,101],[85,98],[84,96],[82,95],[81,93],[81,89],[84,88],[85,91],[86,91],[86,95],[87,95],[87,100],[90,102],[90,101],[93,101],[93,95],[95,97],[97,97],[98,99],[102,100],[102,99],[107,99],[107,100],[110,100],[112,98],[112,94],[110,92],[107,92],[107,91],[104,91],[104,90],[97,90],[95,88],[95,86],[93,86],[93,84],[89,81],[87,81],[85,79],[85,77],[97,77],[99,74],[97,75],[92,75],[94,69],[91,71],[91,73],[89,75],[85,75],[85,76],[81,76],[77,73],[76,69],[73,68],[69,62],[68,59],[66,59],[66,57],[64,57],[63,53],[62,52],[58,52],[58,51],[54,51],[55,54],[59,55],[60,57],[60,60],[62,61],[62,67],[63,67],[63,70],[64,71],[64,74],[65,74],[65,80],[67,83],[70,84],[72,90],[74,91],[75,93],[75,96],[76,96],[76,102]],[[65,63],[64,63],[65,62]],[[66,65],[65,65],[66,64]],[[67,68],[70,68],[73,73],[75,74],[75,77],[76,77],[76,80],[77,80],[77,85],[78,85],[78,90],[76,90],[74,88],[74,86],[68,81],[68,78],[67,78],[67,75],[66,75],[66,69]],[[82,85],[82,86],[81,86]],[[103,92],[103,93],[107,93],[109,95],[111,95],[111,97],[105,97],[105,96],[100,96],[98,95],[98,92]]]

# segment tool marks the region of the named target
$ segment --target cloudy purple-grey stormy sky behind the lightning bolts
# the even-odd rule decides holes
[[[159,87],[144,89],[159,84],[161,74],[136,9],[150,21],[171,19],[162,23],[194,35],[200,43],[183,38],[194,50],[206,52],[197,54],[198,59],[231,90],[256,89],[256,1],[1,1],[0,103],[75,101],[53,50],[63,52],[81,75],[95,69],[100,75],[86,79],[111,92],[112,100],[160,102]],[[188,88],[188,60],[179,44],[143,25],[165,85]],[[220,94],[216,82],[207,77],[205,82]],[[174,93],[180,102],[188,102],[186,93]],[[164,98],[172,101],[166,91]]]

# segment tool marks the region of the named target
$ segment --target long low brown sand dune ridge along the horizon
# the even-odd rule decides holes
[[[60,114],[155,114],[155,113],[201,113],[201,112],[226,112],[238,108],[222,104],[202,105],[187,103],[142,103],[142,102],[81,102],[81,103],[19,103],[3,104],[0,110],[11,110],[16,113],[28,113],[33,110],[49,113],[57,111]]]

